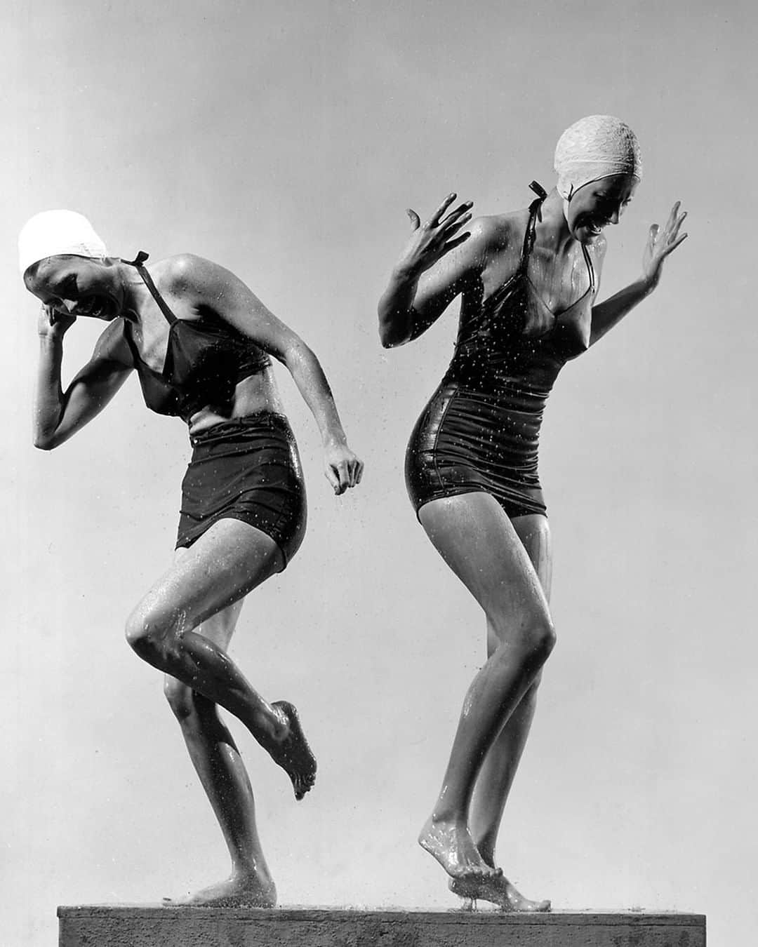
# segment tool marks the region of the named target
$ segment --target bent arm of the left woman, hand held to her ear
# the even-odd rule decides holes
[[[113,398],[132,370],[121,320],[100,335],[92,358],[68,385],[61,384],[63,335],[75,318],[40,313],[40,363],[34,399],[34,446],[51,451],[92,420]]]

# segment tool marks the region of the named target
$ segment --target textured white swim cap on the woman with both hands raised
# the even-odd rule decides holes
[[[569,126],[555,146],[553,166],[558,193],[565,201],[590,181],[613,174],[642,179],[637,136],[614,116],[587,116]]]

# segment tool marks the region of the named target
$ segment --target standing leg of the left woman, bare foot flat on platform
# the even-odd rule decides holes
[[[186,550],[177,550],[177,558]],[[201,626],[202,634],[226,651],[244,599]],[[218,708],[176,678],[166,676],[164,690],[179,721],[195,771],[224,832],[231,857],[231,875],[185,899],[170,904],[225,907],[273,907],[277,889],[263,857],[255,821],[255,801],[243,759]]]

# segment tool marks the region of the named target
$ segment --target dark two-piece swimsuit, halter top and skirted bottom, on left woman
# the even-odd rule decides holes
[[[228,413],[237,384],[270,365],[268,355],[210,311],[178,319],[142,265],[147,254],[123,260],[135,269],[169,324],[162,371],[141,358],[124,320],[124,338],[145,403],[157,414],[189,421],[204,407]],[[192,456],[182,481],[176,547],[192,545],[221,519],[242,520],[280,546],[284,564],[305,532],[306,499],[298,446],[287,419],[262,411],[190,435]]]

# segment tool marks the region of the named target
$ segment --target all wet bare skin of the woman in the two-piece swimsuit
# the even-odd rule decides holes
[[[316,418],[325,474],[334,492],[359,483],[363,465],[347,445],[316,356],[298,336],[241,280],[208,260],[185,255],[159,261],[149,270],[178,318],[193,319],[213,310],[287,366]],[[49,450],[92,420],[133,370],[123,321],[131,321],[140,355],[156,371],[165,362],[168,324],[135,268],[118,259],[48,258],[27,270],[25,282],[43,303],[35,444]],[[217,305],[220,299],[223,308]],[[81,316],[99,318],[108,326],[89,363],[64,391],[63,336]],[[208,406],[189,419],[189,429],[197,432],[266,410],[282,411],[270,368],[237,385],[227,416]],[[169,570],[127,622],[127,639],[135,652],[167,675],[167,699],[231,857],[230,877],[185,899],[188,903],[262,907],[276,902],[250,782],[218,706],[238,717],[285,770],[298,799],[316,777],[316,759],[295,708],[264,700],[227,653],[244,597],[282,567],[280,548],[268,535],[239,520],[222,519],[189,549],[177,550]]]

